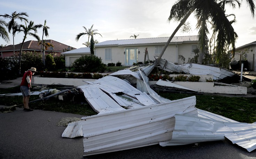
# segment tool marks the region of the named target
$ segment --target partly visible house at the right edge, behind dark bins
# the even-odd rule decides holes
[[[235,61],[248,61],[247,70],[256,71],[256,41],[235,48]],[[243,67],[245,68],[245,67]]]

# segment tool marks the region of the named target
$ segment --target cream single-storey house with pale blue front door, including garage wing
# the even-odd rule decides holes
[[[121,62],[122,65],[132,65],[144,61],[147,48],[149,60],[155,60],[168,39],[169,37],[156,37],[104,41],[95,44],[95,55],[101,57],[104,64]],[[188,61],[188,58],[194,58],[193,50],[197,48],[197,44],[197,35],[173,37],[162,59],[183,64],[178,56],[183,55],[186,59],[185,62]],[[79,48],[62,54],[66,57],[66,65],[70,65],[76,58],[90,54],[90,48]]]

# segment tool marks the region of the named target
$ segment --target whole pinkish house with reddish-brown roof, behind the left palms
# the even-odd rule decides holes
[[[74,47],[70,47],[68,45],[56,42],[54,40],[46,40],[47,43],[52,44],[54,47],[48,47],[47,50],[45,50],[45,55],[48,54],[57,54],[60,55],[60,53],[76,49]],[[21,43],[14,45],[15,48],[15,54],[18,55],[21,50]],[[30,51],[30,52],[41,52],[41,45],[38,45],[38,41],[26,41],[23,44],[22,47],[22,52],[24,51]],[[5,58],[5,57],[10,57],[13,56],[13,45],[8,45],[5,47],[0,48],[0,57]]]

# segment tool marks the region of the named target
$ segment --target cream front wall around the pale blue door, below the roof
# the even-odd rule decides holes
[[[162,59],[166,59],[172,63],[183,64],[183,62],[178,59],[178,55],[183,55],[186,60],[188,58],[193,58],[195,54],[192,54],[192,44],[197,45],[197,43],[183,43],[183,44],[170,44],[163,56]],[[154,61],[158,58],[160,54],[155,54],[155,46],[164,46],[163,45],[141,45],[141,46],[105,46],[105,47],[96,47],[95,55],[102,58],[102,62],[104,64],[108,63],[117,63],[118,61],[122,63],[122,65],[126,65],[126,49],[127,48],[138,48],[140,52],[138,54],[137,62],[143,62],[145,57],[145,50],[147,47],[149,60]],[[177,46],[177,47],[176,47]],[[105,48],[111,48],[111,60],[105,60]],[[124,54],[125,52],[125,54]],[[146,59],[147,61],[147,59]]]

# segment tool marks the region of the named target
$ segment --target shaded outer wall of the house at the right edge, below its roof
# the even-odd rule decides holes
[[[246,48],[249,48],[249,52],[245,54],[245,58],[243,59],[241,58],[241,60],[248,60],[248,69],[249,70],[256,70],[256,45],[250,45],[250,46],[246,46],[243,48],[239,48],[235,50],[235,56],[232,59],[232,61],[240,61],[240,55],[239,52],[242,52],[243,50],[245,50]],[[251,51],[252,50],[252,51]]]

